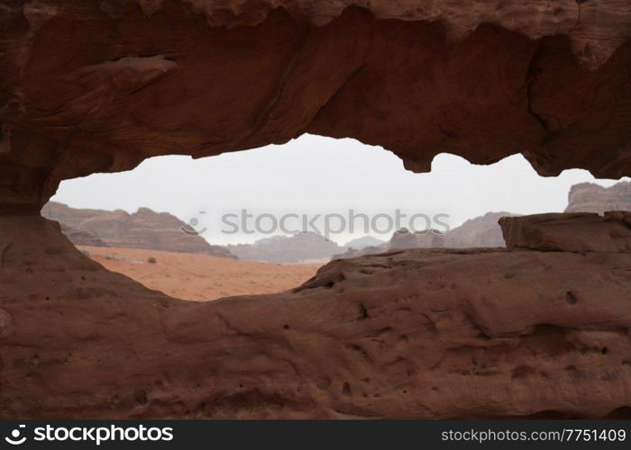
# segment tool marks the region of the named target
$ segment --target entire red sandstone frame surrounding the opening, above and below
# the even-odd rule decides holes
[[[415,171],[631,175],[630,70],[627,0],[3,2],[0,416],[628,418],[630,253],[398,250],[194,303],[39,211],[64,179],[305,132]],[[563,233],[611,243],[618,216]]]

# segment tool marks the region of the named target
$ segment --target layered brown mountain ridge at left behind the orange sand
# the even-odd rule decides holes
[[[48,202],[41,215],[59,221],[61,231],[75,245],[133,247],[235,258],[225,247],[211,246],[201,236],[183,233],[181,229],[186,224],[168,212],[140,208],[130,214],[123,210],[77,209],[64,203]]]

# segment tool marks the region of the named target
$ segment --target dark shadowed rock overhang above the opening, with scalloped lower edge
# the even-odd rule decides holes
[[[64,179],[283,143],[523,153],[631,175],[626,0],[11,0],[0,7],[0,211]]]

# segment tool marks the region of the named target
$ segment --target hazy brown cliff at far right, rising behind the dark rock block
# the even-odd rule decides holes
[[[568,195],[565,212],[631,211],[631,182],[625,181],[611,187],[599,184],[574,184]]]

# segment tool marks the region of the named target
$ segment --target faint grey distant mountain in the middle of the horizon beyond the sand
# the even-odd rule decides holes
[[[306,232],[291,237],[263,238],[253,244],[228,245],[227,249],[239,259],[290,264],[309,259],[330,258],[341,252],[343,247],[319,234]]]

